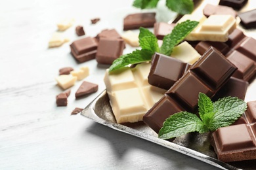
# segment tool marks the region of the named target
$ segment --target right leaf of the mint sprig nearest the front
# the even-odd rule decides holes
[[[247,109],[247,104],[238,97],[223,97],[213,103],[215,112],[209,129],[215,131],[219,127],[229,126],[234,123]]]

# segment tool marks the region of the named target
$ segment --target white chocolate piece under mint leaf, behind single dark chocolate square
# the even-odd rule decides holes
[[[193,64],[201,55],[188,42],[184,41],[173,48],[171,57],[181,59],[184,63]]]

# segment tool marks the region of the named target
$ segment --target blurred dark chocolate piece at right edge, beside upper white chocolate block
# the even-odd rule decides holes
[[[255,28],[256,27],[256,9],[249,10],[247,12],[242,12],[238,14],[241,19],[240,24],[242,24],[245,28]]]

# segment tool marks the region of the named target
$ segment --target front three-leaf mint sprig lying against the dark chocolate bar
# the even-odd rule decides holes
[[[238,97],[223,97],[212,102],[207,95],[199,93],[199,116],[190,112],[179,112],[165,120],[158,137],[171,139],[193,131],[205,133],[233,124],[247,109],[245,101]]]

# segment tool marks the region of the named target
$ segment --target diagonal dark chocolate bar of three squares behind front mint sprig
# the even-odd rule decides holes
[[[186,73],[165,93],[171,99],[171,107],[179,108],[175,112],[162,111],[160,101],[148,110],[143,121],[156,133],[161,129],[164,118],[181,110],[195,111],[198,107],[198,94],[205,93],[213,97],[215,93],[230,78],[236,67],[223,54],[211,47],[194,63]],[[164,99],[161,99],[163,101]],[[160,111],[159,111],[160,110]],[[158,115],[161,115],[161,120]]]

